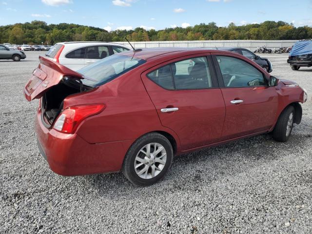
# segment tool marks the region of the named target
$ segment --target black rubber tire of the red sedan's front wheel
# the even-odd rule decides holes
[[[289,133],[287,133],[287,126],[289,124],[289,119],[292,114],[292,124]],[[273,139],[280,142],[288,141],[289,137],[292,134],[292,126],[294,120],[294,108],[293,106],[288,106],[278,117],[277,123],[273,130]]]

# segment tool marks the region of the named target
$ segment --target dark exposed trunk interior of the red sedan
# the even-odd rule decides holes
[[[58,85],[51,87],[41,100],[42,122],[50,127],[63,109],[63,100],[73,94],[90,88],[80,87],[77,79],[65,78]]]

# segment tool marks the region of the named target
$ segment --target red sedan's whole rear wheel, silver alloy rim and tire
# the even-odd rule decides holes
[[[122,172],[133,184],[148,186],[165,176],[173,159],[170,141],[161,134],[149,133],[130,147]]]

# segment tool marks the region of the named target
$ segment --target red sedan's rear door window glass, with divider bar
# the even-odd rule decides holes
[[[208,89],[213,87],[206,57],[172,63],[149,73],[147,77],[168,90]]]

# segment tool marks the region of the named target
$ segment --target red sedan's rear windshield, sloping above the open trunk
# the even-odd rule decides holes
[[[144,59],[138,59],[131,56],[112,55],[89,66],[83,67],[78,70],[78,72],[86,78],[95,80],[83,79],[82,83],[84,85],[97,87],[136,68],[144,62]]]

